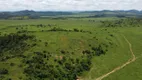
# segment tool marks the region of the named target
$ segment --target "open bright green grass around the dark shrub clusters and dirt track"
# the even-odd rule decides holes
[[[95,22],[89,21],[95,20]],[[52,53],[52,57],[49,60],[50,64],[55,64],[53,60],[56,56],[64,56],[71,58],[80,58],[82,56],[82,51],[86,49],[91,49],[91,46],[97,46],[99,44],[108,45],[105,55],[93,57],[92,65],[90,71],[85,71],[80,77],[86,80],[94,80],[97,77],[111,71],[117,66],[122,65],[128,59],[131,58],[129,46],[121,34],[124,34],[127,39],[131,42],[134,54],[136,57],[141,56],[142,47],[142,27],[100,27],[100,21],[114,21],[119,20],[118,18],[83,18],[83,19],[68,19],[68,20],[52,20],[52,19],[36,19],[36,20],[0,20],[0,29],[2,34],[9,34],[17,32],[16,25],[32,25],[32,24],[44,24],[44,25],[54,25],[52,27],[60,27],[62,29],[73,30],[77,28],[79,30],[90,31],[91,33],[81,33],[81,32],[42,32],[42,30],[49,30],[52,27],[42,27],[38,28],[35,26],[23,27],[28,31],[36,31],[33,33],[28,33],[30,35],[35,35],[37,40],[37,46],[30,48],[25,51],[24,55],[33,55],[34,51],[49,51]],[[21,27],[18,27],[19,29]],[[106,30],[107,29],[107,30]],[[113,36],[110,36],[113,35]],[[94,38],[96,37],[96,38]],[[97,40],[98,39],[98,40]],[[48,46],[45,47],[44,42],[48,42]],[[32,43],[32,42],[31,42]],[[67,50],[69,52],[74,52],[75,55],[67,54],[62,55],[60,50]],[[103,49],[106,47],[103,46]],[[141,80],[141,57],[138,58],[132,64],[126,66],[120,71],[111,74],[104,80]],[[21,63],[21,58],[9,59],[6,62],[0,62],[0,68],[7,68],[9,74],[6,78],[11,78],[12,80],[19,80],[19,77],[26,79],[26,75],[23,74],[23,67],[18,67],[20,64],[24,67],[25,64]],[[10,67],[7,63],[15,63],[15,66]]]

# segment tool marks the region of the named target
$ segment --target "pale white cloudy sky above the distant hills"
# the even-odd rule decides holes
[[[142,10],[142,0],[0,0],[0,11]]]

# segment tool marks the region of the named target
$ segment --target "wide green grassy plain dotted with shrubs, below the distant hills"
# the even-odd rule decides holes
[[[137,59],[103,80],[141,80],[141,30],[142,20],[138,22],[135,19],[115,17],[69,18],[66,20],[0,20],[1,37],[17,32],[18,34],[35,36],[33,40],[24,41],[26,44],[34,46],[25,50],[22,48],[22,52],[11,54],[5,48],[0,52],[2,54],[0,57],[0,69],[8,70],[7,74],[0,72],[0,80],[73,80],[78,78],[95,80],[117,66],[121,66],[132,57],[129,45],[123,35],[132,44],[132,49]],[[18,57],[18,53],[25,57]],[[46,58],[39,57],[39,53],[46,55]],[[9,55],[16,57],[2,61],[3,58],[5,59]],[[53,73],[48,74],[47,72],[49,72],[50,68],[45,68],[45,65],[41,64],[41,62],[38,63],[36,60],[34,62],[35,58],[33,57],[42,59],[41,61],[46,66],[51,65]],[[77,63],[77,59],[79,63]],[[66,67],[66,63],[70,66]],[[34,68],[31,68],[31,65]],[[36,66],[39,66],[40,69],[37,69]],[[86,67],[84,68],[84,66]],[[82,70],[78,70],[79,68],[82,68]],[[28,71],[30,69],[33,70],[30,72]],[[76,71],[73,71],[73,69]],[[32,74],[34,70],[37,70],[42,76],[37,72]],[[75,72],[76,74],[74,75],[73,73]],[[48,75],[45,76],[45,73],[51,75],[51,78],[48,78]],[[55,78],[55,75],[52,75],[57,73],[65,74],[65,78],[58,75]],[[70,74],[73,76],[69,76]]]

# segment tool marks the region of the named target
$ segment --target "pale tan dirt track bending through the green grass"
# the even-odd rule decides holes
[[[128,64],[130,64],[130,63],[132,63],[132,62],[134,62],[134,61],[136,60],[135,54],[133,53],[133,50],[132,50],[132,45],[131,45],[131,43],[128,41],[128,39],[127,39],[124,35],[123,35],[123,37],[124,37],[125,41],[129,44],[129,48],[130,48],[130,52],[131,52],[132,58],[129,59],[129,60],[128,60],[126,63],[124,63],[123,65],[118,66],[117,68],[113,69],[112,71],[110,71],[110,72],[108,72],[108,73],[106,73],[106,74],[104,74],[104,75],[102,75],[102,76],[96,78],[96,80],[102,80],[102,79],[104,79],[105,77],[109,76],[110,74],[112,74],[112,73],[114,73],[114,72],[116,72],[116,71],[118,71],[118,70],[124,68],[125,66],[127,66]]]

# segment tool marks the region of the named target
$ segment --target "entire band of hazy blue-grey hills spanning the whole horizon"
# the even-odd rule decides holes
[[[0,19],[11,19],[15,17],[28,17],[30,19],[36,19],[40,16],[57,16],[57,15],[76,15],[76,14],[94,14],[90,17],[126,17],[126,16],[142,16],[142,11],[138,10],[102,10],[102,11],[81,11],[81,12],[65,12],[65,11],[33,11],[23,10],[15,12],[0,12]],[[89,16],[89,15],[88,15]],[[20,18],[22,19],[22,18]]]

